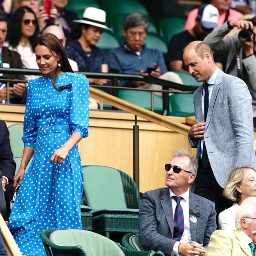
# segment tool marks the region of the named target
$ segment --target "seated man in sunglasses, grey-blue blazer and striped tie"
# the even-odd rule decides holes
[[[145,192],[139,209],[142,250],[166,256],[205,255],[216,230],[215,204],[189,191],[196,178],[198,160],[183,149],[173,152],[166,164],[168,188]]]

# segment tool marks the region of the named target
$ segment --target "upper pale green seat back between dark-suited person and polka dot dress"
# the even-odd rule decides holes
[[[8,127],[10,133],[10,145],[13,157],[20,157],[23,154],[24,143],[21,139],[23,136],[23,124],[12,124]]]

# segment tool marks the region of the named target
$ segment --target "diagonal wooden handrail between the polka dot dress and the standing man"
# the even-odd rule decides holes
[[[175,132],[179,132],[184,135],[188,135],[188,130],[190,126],[173,122],[167,117],[154,113],[150,110],[139,107],[130,102],[124,101],[120,98],[117,98],[111,94],[107,94],[103,91],[97,90],[93,87],[90,87],[90,97],[98,99],[102,102],[105,102],[109,105],[116,107],[117,109],[122,109],[129,113],[132,113],[138,117],[142,117],[148,121],[154,122],[156,124],[162,125],[166,128],[169,128]]]

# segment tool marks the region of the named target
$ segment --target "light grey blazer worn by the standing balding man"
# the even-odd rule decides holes
[[[202,93],[203,85],[193,95],[196,123],[204,120]],[[256,167],[252,96],[243,80],[221,70],[212,88],[204,140],[212,171],[222,188],[234,167]],[[201,139],[188,138],[188,141],[197,148],[196,156],[200,158]]]

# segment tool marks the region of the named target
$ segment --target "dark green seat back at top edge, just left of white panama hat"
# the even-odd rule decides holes
[[[79,19],[83,18],[83,12],[87,7],[100,8],[100,5],[96,0],[70,0],[66,6],[66,9],[69,11],[74,11]]]

